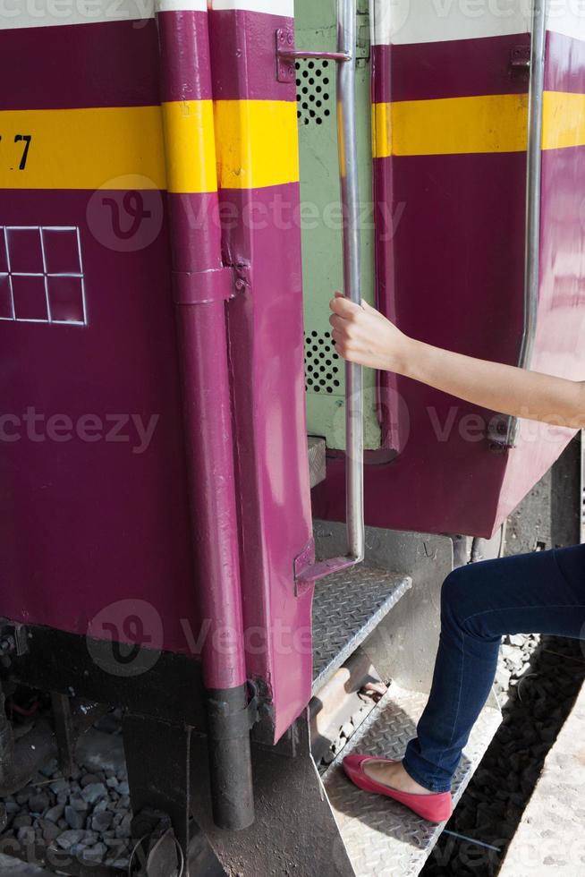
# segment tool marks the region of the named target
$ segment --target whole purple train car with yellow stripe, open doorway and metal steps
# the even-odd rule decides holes
[[[136,873],[195,877],[202,837],[243,877],[420,871],[440,827],[318,753],[372,678],[346,751],[401,751],[445,575],[543,476],[547,539],[579,541],[581,444],[343,366],[327,303],[582,376],[585,32],[557,13],[4,9],[0,706],[51,709],[16,738],[0,709],[1,795],[117,707]]]

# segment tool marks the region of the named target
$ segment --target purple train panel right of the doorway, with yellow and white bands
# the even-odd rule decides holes
[[[568,7],[567,7],[568,8]],[[517,364],[524,330],[530,4],[371,5],[377,302],[422,341]],[[530,367],[584,377],[585,30],[547,20],[538,319]],[[372,525],[489,536],[560,455],[571,430],[521,421],[381,376],[391,463],[366,467]],[[343,516],[343,460],[316,492]]]

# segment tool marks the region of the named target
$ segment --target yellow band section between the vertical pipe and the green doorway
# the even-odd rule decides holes
[[[296,104],[220,100],[216,111],[217,176],[224,189],[261,189],[297,182]]]

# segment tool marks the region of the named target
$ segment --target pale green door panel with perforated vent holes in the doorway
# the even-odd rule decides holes
[[[362,209],[363,297],[375,302],[374,220],[367,0],[360,2],[357,75],[358,148]],[[335,50],[335,0],[296,0],[296,44]],[[344,366],[329,336],[328,302],[343,289],[342,229],[335,115],[335,64],[297,64],[301,150],[301,235],[305,300],[305,372],[309,434],[345,447]],[[375,372],[364,372],[366,447],[380,447]]]

